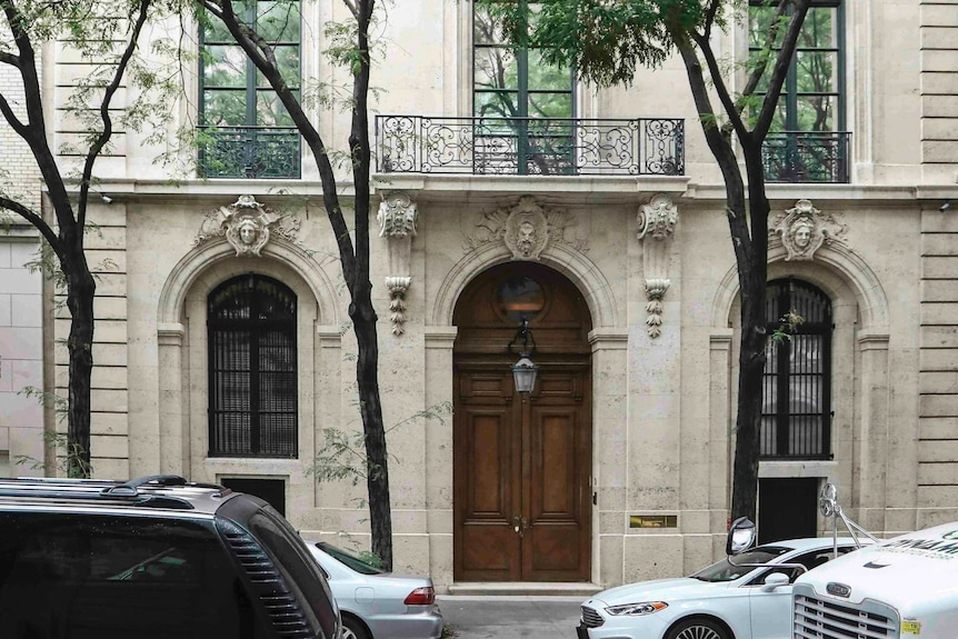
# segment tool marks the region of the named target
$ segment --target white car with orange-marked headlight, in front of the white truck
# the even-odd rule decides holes
[[[832,539],[791,539],[722,559],[691,577],[599,592],[582,603],[579,639],[790,639],[791,582],[832,559]],[[855,550],[838,540],[838,552]],[[745,567],[761,563],[762,567]]]

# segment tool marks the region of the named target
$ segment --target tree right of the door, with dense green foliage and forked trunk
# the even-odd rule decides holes
[[[523,42],[520,13],[526,8],[525,0],[476,1],[499,16],[513,42]],[[538,18],[529,42],[543,48],[547,61],[573,64],[588,83],[630,84],[638,68],[658,67],[673,53],[685,64],[706,141],[726,186],[727,219],[742,300],[731,515],[755,518],[761,376],[768,341],[765,298],[769,202],[761,148],[774,123],[809,0],[764,2],[764,23],[754,30],[757,40],[752,41],[739,84],[730,83],[739,66],[725,66],[712,41],[721,29],[744,16],[742,1],[540,0],[535,4]],[[734,92],[732,86],[741,88]]]

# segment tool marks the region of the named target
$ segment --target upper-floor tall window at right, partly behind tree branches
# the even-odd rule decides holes
[[[749,54],[766,46],[777,1],[749,0]],[[791,14],[789,8],[782,20]],[[756,94],[764,96],[782,26]],[[765,144],[766,178],[778,182],[847,182],[848,133],[844,104],[845,19],[840,0],[811,0]]]

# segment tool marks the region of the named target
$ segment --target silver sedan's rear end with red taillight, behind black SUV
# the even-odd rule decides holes
[[[429,577],[383,572],[325,541],[306,541],[342,615],[342,639],[438,639],[442,613]]]

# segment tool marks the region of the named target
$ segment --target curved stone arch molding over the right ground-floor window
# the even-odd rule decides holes
[[[828,244],[818,249],[814,261],[785,261],[785,247],[769,247],[769,279],[794,274],[820,287],[837,303],[858,304],[862,328],[871,331],[888,330],[888,298],[878,276],[858,254],[844,244]],[[825,267],[825,268],[822,268]],[[738,296],[738,269],[732,267],[722,278],[712,302],[711,326],[729,326],[729,316]]]

